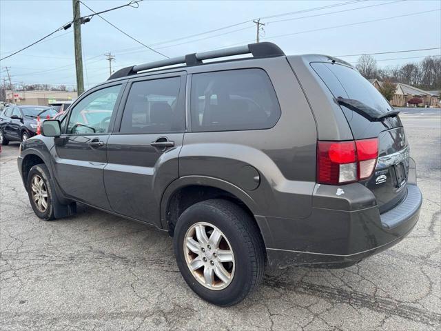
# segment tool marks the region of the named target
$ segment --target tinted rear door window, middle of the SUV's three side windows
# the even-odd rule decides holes
[[[180,77],[138,81],[125,103],[120,132],[183,132],[185,113],[179,100]]]

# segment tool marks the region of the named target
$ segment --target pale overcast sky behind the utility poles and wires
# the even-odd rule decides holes
[[[121,6],[128,1],[83,0],[96,12]],[[336,4],[342,5],[311,10]],[[440,0],[143,1],[139,3],[139,8],[125,7],[107,12],[103,17],[168,57],[252,43],[256,39],[256,25],[252,20],[259,17],[263,18],[263,23],[267,23],[261,41],[277,43],[286,54],[320,53],[338,56],[439,48],[440,8]],[[272,15],[301,10],[308,11],[271,18]],[[416,14],[418,12],[423,13]],[[91,13],[81,4],[82,16]],[[411,16],[403,16],[409,14]],[[70,20],[70,0],[0,0],[0,58],[40,39]],[[246,21],[249,22],[198,37],[184,38]],[[13,82],[74,85],[72,30],[57,32],[36,46],[1,61],[1,81],[6,77],[4,67],[8,66]],[[81,26],[81,33],[85,88],[109,76],[104,53],[115,54],[116,61],[112,63],[115,70],[163,59],[100,17],[94,17]],[[163,43],[165,41],[169,42]],[[155,46],[158,43],[161,44]],[[438,49],[380,54],[375,57],[380,66],[388,66],[420,61],[424,56],[440,54]],[[413,59],[402,59],[409,57]],[[353,63],[358,57],[342,59]]]

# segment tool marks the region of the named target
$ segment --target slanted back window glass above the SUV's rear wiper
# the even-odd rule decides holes
[[[312,68],[325,82],[334,97],[353,99],[364,103],[377,112],[386,113],[391,105],[360,72],[347,66],[331,63],[311,63]]]

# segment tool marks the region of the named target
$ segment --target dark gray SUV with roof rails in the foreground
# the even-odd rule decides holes
[[[81,202],[168,231],[185,281],[223,306],[265,265],[343,268],[395,245],[422,203],[387,100],[349,63],[272,43],[121,69],[18,164],[38,217]]]

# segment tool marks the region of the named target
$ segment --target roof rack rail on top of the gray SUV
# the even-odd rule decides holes
[[[249,43],[245,46],[222,48],[220,50],[209,50],[208,52],[187,54],[183,55],[182,57],[174,57],[172,59],[165,59],[126,67],[114,72],[114,74],[112,74],[107,80],[127,77],[143,70],[174,66],[175,64],[185,63],[185,66],[198,66],[203,64],[202,60],[216,59],[218,57],[231,57],[233,55],[240,54],[252,54],[255,59],[285,56],[283,50],[281,50],[275,43]]]

